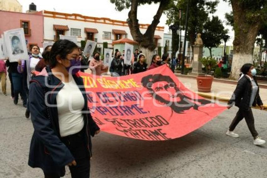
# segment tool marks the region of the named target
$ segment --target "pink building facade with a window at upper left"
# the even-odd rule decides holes
[[[38,45],[43,47],[44,16],[41,12],[34,14],[9,12],[0,10],[0,34],[16,28],[24,28],[27,47]]]

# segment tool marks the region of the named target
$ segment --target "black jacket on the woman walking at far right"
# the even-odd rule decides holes
[[[262,101],[259,96],[259,85],[254,78],[255,83],[258,86],[258,91],[256,94],[256,97],[254,99],[254,102],[252,106],[256,106],[258,104],[259,106],[262,105]],[[231,99],[228,101],[228,105],[232,106],[235,104],[238,108],[242,110],[248,110],[249,109],[249,102],[250,102],[250,97],[251,97],[251,92],[252,92],[252,83],[250,79],[248,78],[247,75],[244,75],[238,82],[237,82],[237,87],[231,97]]]

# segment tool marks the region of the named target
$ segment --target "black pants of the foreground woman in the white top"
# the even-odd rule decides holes
[[[90,177],[90,156],[85,145],[84,130],[66,137],[62,137],[63,143],[68,147],[77,163],[76,166],[69,166],[72,178]],[[61,172],[44,173],[45,178],[59,178]]]

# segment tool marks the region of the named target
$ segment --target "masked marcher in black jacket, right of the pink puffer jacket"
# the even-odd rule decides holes
[[[123,76],[123,56],[119,51],[115,53],[115,57],[113,58],[111,65],[110,65],[110,72],[112,76]]]

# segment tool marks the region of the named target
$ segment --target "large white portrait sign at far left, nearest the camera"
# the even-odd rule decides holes
[[[4,42],[10,62],[28,60],[29,56],[23,28],[5,31]]]

